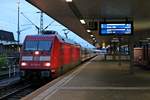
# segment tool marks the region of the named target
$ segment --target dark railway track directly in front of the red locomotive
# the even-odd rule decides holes
[[[29,82],[19,82],[0,89],[0,100],[19,100],[37,88]]]

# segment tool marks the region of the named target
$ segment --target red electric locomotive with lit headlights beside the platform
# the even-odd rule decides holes
[[[20,56],[22,76],[55,78],[82,61],[80,45],[52,33],[26,36]]]

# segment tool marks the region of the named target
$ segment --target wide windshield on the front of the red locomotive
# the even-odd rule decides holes
[[[26,41],[25,42],[25,50],[50,50],[51,42],[50,41]]]

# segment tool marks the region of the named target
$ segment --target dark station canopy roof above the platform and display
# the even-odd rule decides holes
[[[80,19],[90,22],[101,18],[131,18],[136,37],[140,37],[138,33],[141,31],[150,29],[150,0],[72,0],[69,3],[66,0],[27,1],[91,43],[93,41],[86,31],[89,24],[81,24]],[[100,41],[108,39],[99,36],[97,30],[91,34]]]

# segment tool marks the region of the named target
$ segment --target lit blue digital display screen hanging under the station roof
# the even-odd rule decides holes
[[[131,23],[101,23],[101,35],[130,35],[132,34]]]

